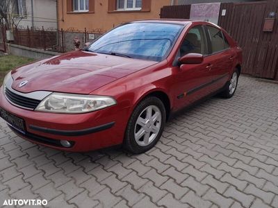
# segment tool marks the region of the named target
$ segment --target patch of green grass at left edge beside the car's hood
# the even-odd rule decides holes
[[[17,55],[0,55],[0,86],[2,85],[3,78],[8,71],[33,61],[33,58],[25,58]]]

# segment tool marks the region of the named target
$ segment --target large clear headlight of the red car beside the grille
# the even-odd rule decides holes
[[[100,110],[117,102],[109,96],[52,93],[35,108],[37,111],[79,114]]]

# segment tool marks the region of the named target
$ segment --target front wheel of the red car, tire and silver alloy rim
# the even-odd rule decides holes
[[[126,127],[124,148],[134,154],[145,153],[161,138],[165,121],[163,102],[154,96],[145,98],[131,114]]]

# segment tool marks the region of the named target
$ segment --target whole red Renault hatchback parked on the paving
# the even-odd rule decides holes
[[[122,144],[143,153],[173,112],[236,91],[242,51],[215,24],[132,21],[80,51],[19,67],[0,91],[1,117],[20,137],[59,150]]]

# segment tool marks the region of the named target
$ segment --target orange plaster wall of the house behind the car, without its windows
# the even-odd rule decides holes
[[[171,0],[152,0],[150,11],[108,12],[108,0],[95,0],[94,12],[67,12],[67,1],[58,0],[58,27],[83,31],[105,32],[125,21],[136,19],[159,19],[161,8],[170,5]]]

